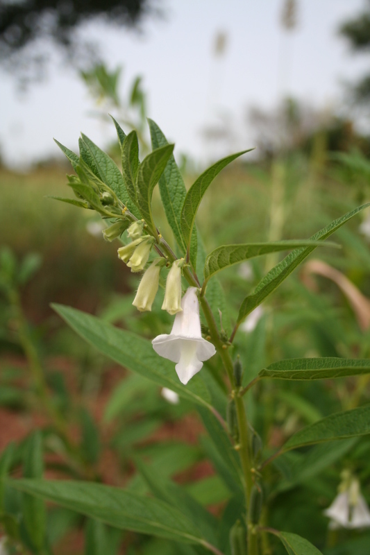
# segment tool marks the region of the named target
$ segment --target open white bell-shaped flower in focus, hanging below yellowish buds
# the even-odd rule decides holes
[[[160,357],[177,362],[175,368],[180,382],[187,384],[201,370],[203,361],[215,355],[215,345],[201,335],[199,302],[196,287],[189,287],[181,302],[170,334],[161,334],[151,342]]]

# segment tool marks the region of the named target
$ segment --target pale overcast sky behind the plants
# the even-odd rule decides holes
[[[201,130],[215,123],[217,114],[228,114],[243,130],[239,140],[251,142],[245,118],[251,105],[272,108],[284,94],[318,107],[340,105],[342,83],[367,71],[369,59],[352,56],[337,35],[339,24],[355,16],[364,0],[298,0],[298,26],[289,35],[280,26],[282,5],[282,0],[162,0],[165,19],[146,21],[142,35],[97,24],[84,33],[99,40],[111,69],[124,67],[123,96],[142,75],[149,117],[177,152],[200,160],[210,155]],[[215,58],[220,31],[227,36],[226,50]],[[0,98],[1,153],[15,167],[56,155],[52,137],[76,151],[81,131],[100,146],[115,135],[92,117],[94,103],[85,85],[60,65],[26,95],[1,73]],[[232,146],[248,148],[250,142]]]

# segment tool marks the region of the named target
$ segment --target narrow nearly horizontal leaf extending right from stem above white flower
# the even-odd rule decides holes
[[[276,243],[246,243],[240,245],[224,245],[212,250],[206,259],[204,265],[204,278],[209,280],[215,273],[262,255],[270,253],[278,253],[280,250],[291,250],[293,248],[308,246],[330,246],[337,247],[335,243],[323,244],[322,241],[276,241]]]

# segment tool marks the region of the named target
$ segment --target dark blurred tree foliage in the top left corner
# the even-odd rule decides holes
[[[153,0],[0,0],[1,64],[23,76],[35,74],[49,59],[45,45],[51,42],[81,67],[94,58],[94,45],[83,44],[76,33],[83,24],[100,19],[137,27],[154,13]]]

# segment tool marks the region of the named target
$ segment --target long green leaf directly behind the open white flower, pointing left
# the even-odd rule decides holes
[[[201,378],[196,375],[184,386],[178,380],[174,364],[162,359],[153,350],[150,341],[120,330],[91,314],[71,307],[52,305],[53,309],[90,345],[117,361],[122,366],[140,374],[161,387],[168,387],[178,395],[210,409],[210,395]]]

